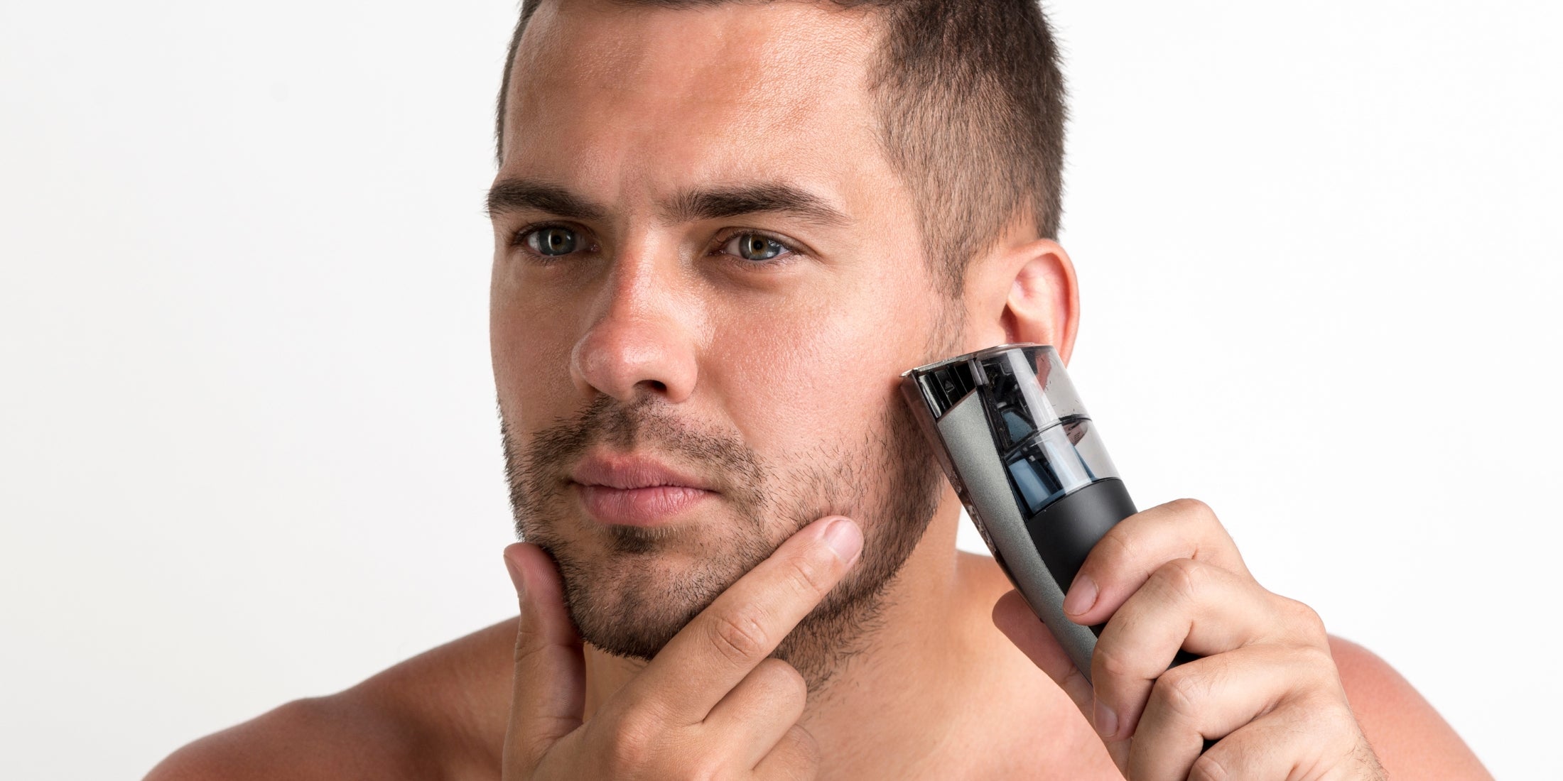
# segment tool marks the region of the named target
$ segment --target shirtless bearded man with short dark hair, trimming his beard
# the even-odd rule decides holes
[[[1486,778],[1199,501],[1069,589],[1094,689],[955,550],[899,373],[1078,322],[1030,0],[528,0],[499,119],[519,620],[152,778]]]

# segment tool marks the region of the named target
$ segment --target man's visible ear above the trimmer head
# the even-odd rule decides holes
[[[1053,345],[1066,364],[1080,325],[1080,289],[1069,253],[1052,239],[999,250],[967,280],[967,334],[982,344]]]

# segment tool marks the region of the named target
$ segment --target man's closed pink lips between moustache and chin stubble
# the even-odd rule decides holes
[[[589,456],[570,481],[603,525],[658,526],[716,495],[705,481],[644,456]]]

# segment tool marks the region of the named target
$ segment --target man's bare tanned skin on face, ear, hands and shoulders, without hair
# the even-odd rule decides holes
[[[941,306],[863,91],[874,33],[863,16],[796,3],[539,9],[499,180],[542,180],[603,209],[556,220],[597,247],[556,266],[513,239],[558,214],[495,214],[494,372],[519,447],[599,398],[650,398],[772,464],[872,439],[902,403],[899,373],[928,358],[927,312]],[[844,220],[667,208],[689,191],[778,181]],[[733,262],[721,248],[735,230],[797,255]],[[993,239],[955,301],[952,351],[1032,341],[1068,359],[1068,255],[1024,223]],[[1380,762],[1397,778],[1488,778],[1388,665],[1260,587],[1191,500],[1125,520],[1082,570],[1100,595],[1080,622],[1113,614],[1093,670],[1116,714],[1105,736],[1078,673],[993,561],[955,551],[947,486],[874,631],[805,690],[771,650],[897,522],[817,511],[760,519],[767,540],[802,531],[774,536],[775,553],[649,662],[583,645],[553,559],[513,545],[519,620],[209,736],[148,778],[1380,778]],[[675,525],[722,540],[738,519],[719,495]],[[578,556],[610,550],[578,512],[553,523]],[[647,583],[686,572],[691,550],[660,551]],[[1157,678],[1185,640],[1207,659]],[[1200,761],[1200,731],[1232,737]]]

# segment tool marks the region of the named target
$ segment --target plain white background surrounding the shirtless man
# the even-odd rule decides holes
[[[1499,778],[1552,772],[1560,6],[1052,12],[1071,369],[1136,500],[1204,498]],[[513,19],[0,6],[0,775],[134,778],[513,614]]]

